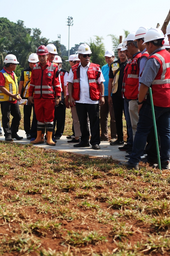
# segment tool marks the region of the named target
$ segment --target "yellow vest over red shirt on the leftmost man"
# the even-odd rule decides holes
[[[10,93],[12,94],[17,94],[18,92],[18,81],[17,81],[17,76],[14,73],[14,79],[12,78],[12,76],[7,73],[4,69],[0,71],[1,73],[3,73],[4,77],[5,77],[5,86],[4,88],[7,89]],[[15,101],[14,98],[8,96],[7,94],[2,93],[2,91],[0,91],[0,101]]]

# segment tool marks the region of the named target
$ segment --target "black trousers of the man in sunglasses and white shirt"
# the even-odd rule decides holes
[[[87,117],[90,121],[91,139],[90,144],[100,144],[100,122],[99,122],[99,104],[77,103],[76,111],[80,123],[80,131],[82,133],[81,142],[86,144],[89,142],[89,129]]]

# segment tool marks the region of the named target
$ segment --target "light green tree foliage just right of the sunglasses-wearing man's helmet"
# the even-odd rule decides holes
[[[105,58],[105,45],[102,42],[103,37],[95,36],[95,40],[90,39],[89,46],[92,51],[90,61],[94,64],[99,64],[100,67],[104,66]]]

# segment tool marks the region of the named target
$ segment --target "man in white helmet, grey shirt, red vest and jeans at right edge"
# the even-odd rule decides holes
[[[170,162],[170,53],[163,46],[164,34],[158,28],[150,28],[144,36],[144,45],[150,54],[140,79],[138,111],[139,122],[134,137],[133,150],[128,162],[120,166],[139,170],[140,156],[145,148],[147,135],[153,127],[153,116],[148,88],[152,88],[154,112],[160,136],[161,169],[169,169]],[[153,168],[157,168],[155,164]]]

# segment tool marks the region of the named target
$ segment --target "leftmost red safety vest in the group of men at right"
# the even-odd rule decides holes
[[[135,55],[127,69],[127,80],[125,95],[127,99],[136,100],[138,98],[139,87],[139,67],[138,59],[141,57],[141,52]]]

